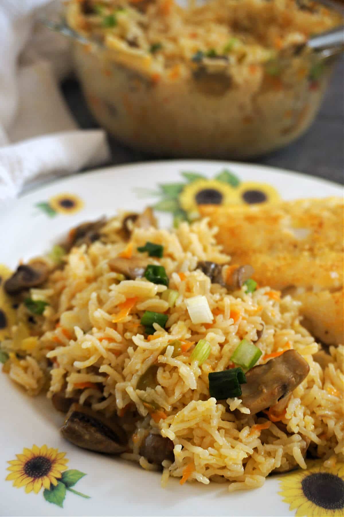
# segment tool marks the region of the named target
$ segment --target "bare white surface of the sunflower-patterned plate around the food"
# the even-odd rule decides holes
[[[138,211],[148,204],[168,200],[165,207],[176,206],[176,199],[171,203],[171,188],[167,187],[170,193],[167,196],[159,185],[187,185],[187,179],[181,174],[185,171],[214,178],[224,169],[234,172],[241,186],[244,181],[266,183],[285,200],[342,195],[339,186],[327,181],[250,164],[178,160],[111,167],[56,181],[14,202],[12,208],[0,214],[0,262],[14,268],[20,258],[25,261],[48,250],[70,227],[103,214],[113,215],[120,208]],[[209,185],[211,188],[214,186]],[[179,189],[182,188],[180,185]],[[153,191],[160,191],[160,194],[152,195]],[[56,199],[60,193],[66,194],[64,199],[70,200],[64,205],[71,204],[75,198],[77,206],[74,211],[61,213]],[[171,223],[170,214],[158,213],[162,224]],[[160,474],[145,472],[135,464],[81,450],[65,442],[58,430],[62,417],[44,397],[27,397],[5,374],[0,374],[0,390],[2,515],[276,516],[294,515],[296,512],[296,509],[289,511],[289,503],[283,502],[283,495],[279,494],[281,478],[277,477],[269,478],[261,489],[245,492],[228,493],[227,484],[186,483],[181,486],[176,479],[170,480],[167,489],[161,489]],[[25,488],[15,488],[12,481],[5,481],[7,461],[15,460],[16,454],[20,454],[24,447],[31,449],[33,444],[38,447],[46,444],[65,452],[69,469],[87,474],[78,480],[73,490],[90,498],[68,490],[61,508],[44,498],[43,488],[38,494],[26,494]],[[295,476],[295,488],[300,488],[300,474],[297,472]],[[300,505],[306,500],[301,498]],[[298,515],[335,515],[332,510],[319,506],[309,504],[308,507],[307,513],[300,509]]]

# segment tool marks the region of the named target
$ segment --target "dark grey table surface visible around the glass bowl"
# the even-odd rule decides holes
[[[252,160],[253,163],[273,165],[283,169],[344,183],[344,59],[333,73],[316,120],[301,138],[284,149]],[[83,94],[75,80],[67,80],[62,92],[74,117],[82,128],[97,127],[87,109]],[[154,157],[121,145],[109,137],[111,163],[152,160]],[[168,157],[167,157],[168,158]]]

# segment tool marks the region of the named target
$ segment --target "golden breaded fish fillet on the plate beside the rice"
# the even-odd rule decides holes
[[[200,207],[233,264],[251,264],[260,285],[294,288],[314,335],[343,342],[343,201]]]

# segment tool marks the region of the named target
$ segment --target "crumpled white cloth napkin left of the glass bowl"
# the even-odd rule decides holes
[[[49,3],[0,0],[0,208],[32,181],[109,159],[105,132],[78,129],[59,91],[71,57],[37,21]]]

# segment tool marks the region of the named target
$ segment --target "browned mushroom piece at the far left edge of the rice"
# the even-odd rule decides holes
[[[49,275],[49,268],[43,260],[38,258],[29,264],[18,266],[17,271],[6,280],[4,289],[7,294],[14,296],[31,287],[42,285]]]

